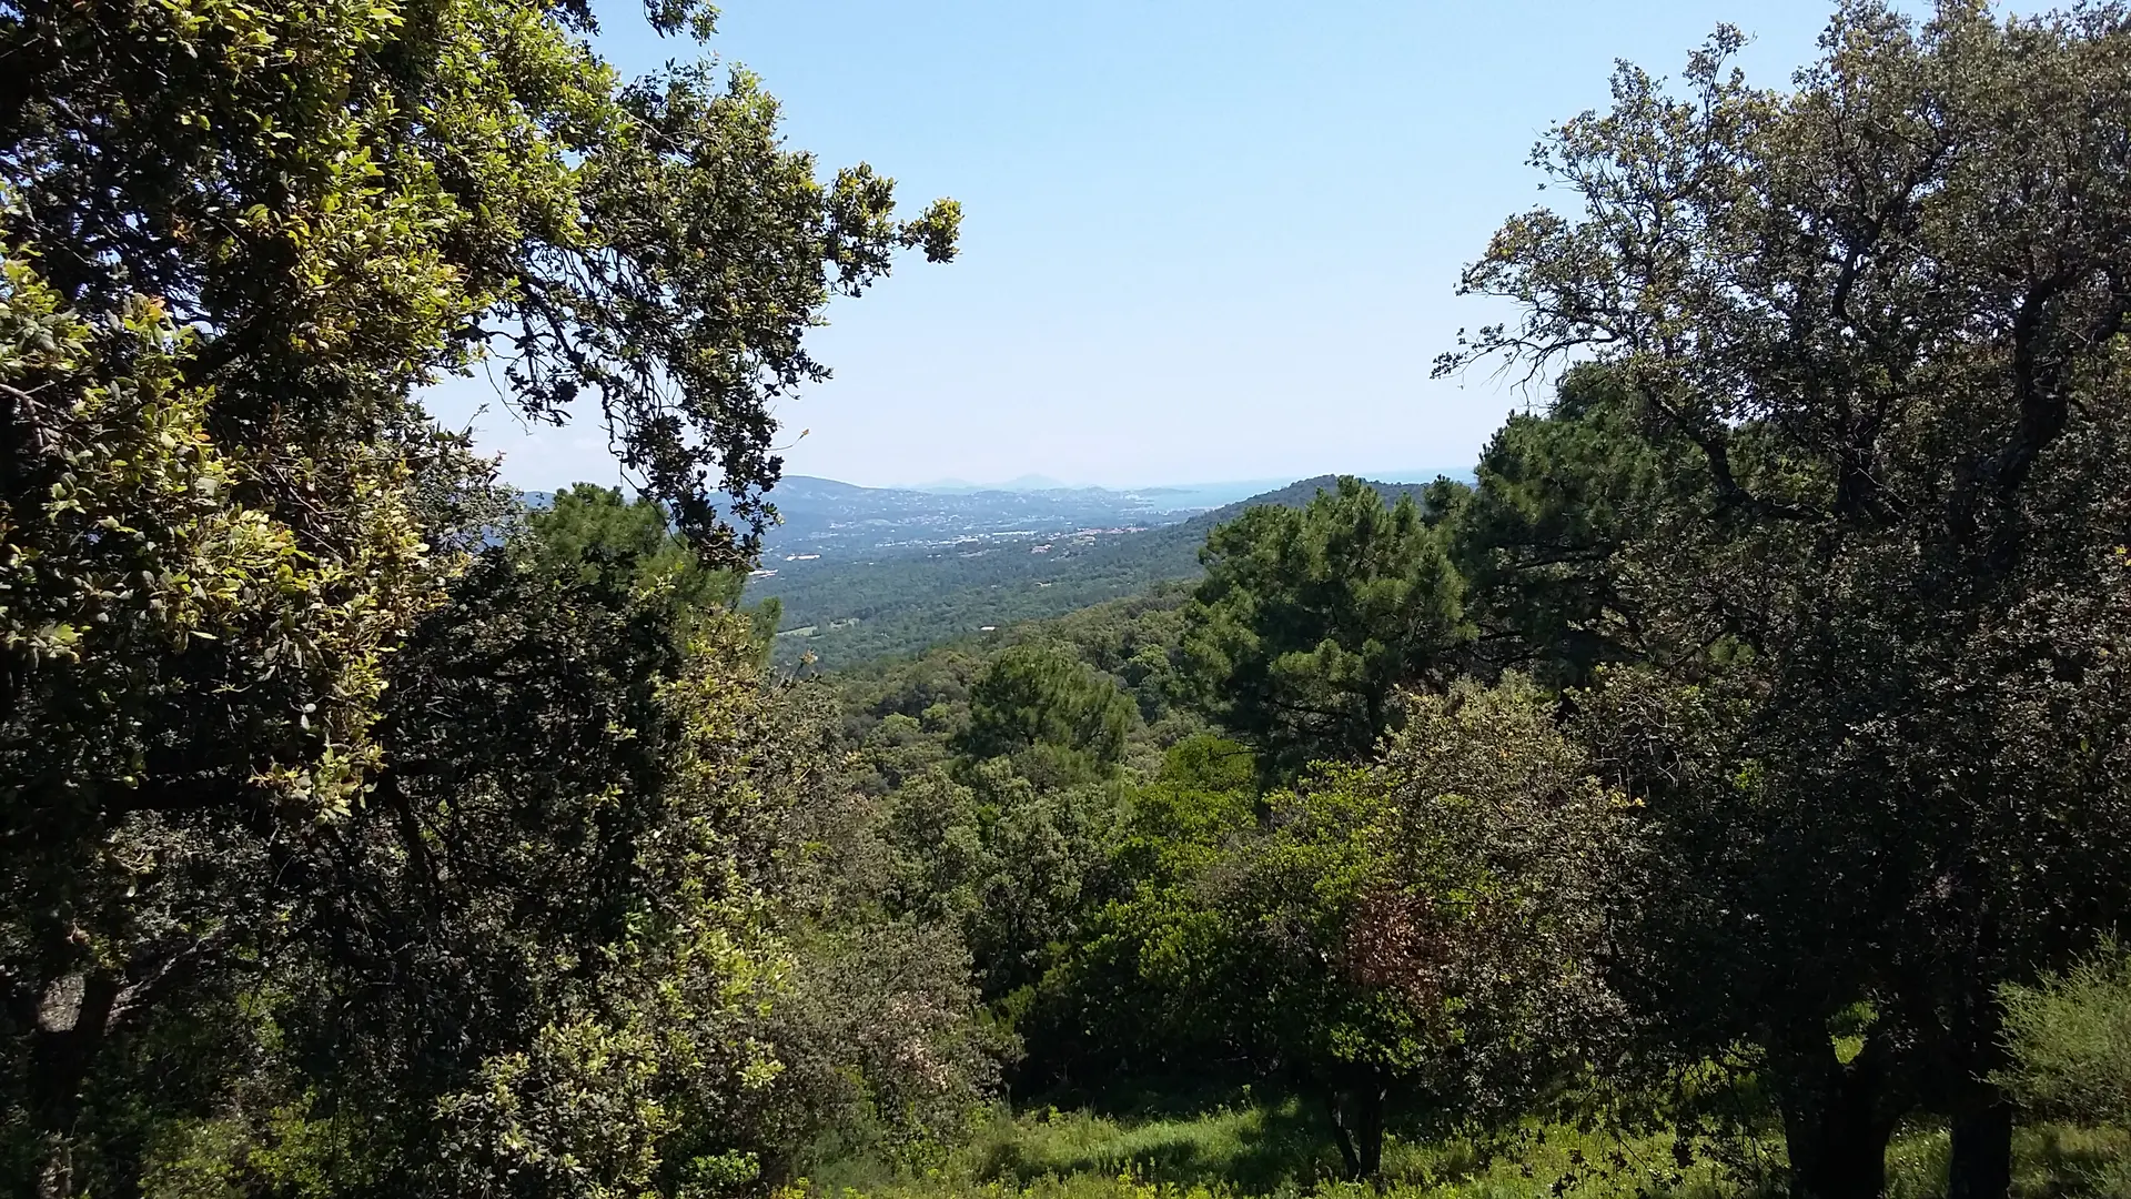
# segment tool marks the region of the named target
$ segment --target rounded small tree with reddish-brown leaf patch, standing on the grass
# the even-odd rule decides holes
[[[1613,1011],[1596,898],[1620,811],[1526,683],[1417,698],[1379,766],[1276,800],[1208,881],[1230,964],[1206,1001],[1328,1094],[1355,1176],[1381,1165],[1387,1103],[1511,1116]]]

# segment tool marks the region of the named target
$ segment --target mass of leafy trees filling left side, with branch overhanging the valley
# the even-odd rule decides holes
[[[801,333],[893,250],[950,256],[957,213],[897,222],[867,169],[816,181],[746,75],[622,85],[590,30],[584,4],[486,0],[0,6],[0,1152],[23,1188],[126,1190],[198,1141],[183,1120],[234,1120],[200,1144],[251,1144],[290,1188],[388,1186],[430,1152],[448,1190],[637,1186],[690,1103],[769,1069],[725,1026],[774,954],[733,879],[695,877],[739,853],[737,813],[641,757],[754,728],[731,632],[682,668],[671,623],[635,612],[646,644],[601,580],[452,582],[499,503],[413,395],[492,348],[526,416],[597,393],[729,567],[771,518],[769,405],[823,375]],[[533,646],[548,676],[511,676]],[[405,674],[439,661],[494,689]],[[690,670],[716,702],[663,736],[654,693]],[[701,760],[748,757],[727,749]],[[428,986],[426,1013],[341,990]],[[411,1105],[354,1133],[337,1105],[371,1084]],[[394,1156],[413,1114],[439,1126]]]

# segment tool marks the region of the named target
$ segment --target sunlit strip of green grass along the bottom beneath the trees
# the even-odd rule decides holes
[[[1943,1199],[1946,1131],[1905,1129],[1888,1150],[1888,1199]],[[2022,1129],[2016,1199],[2131,1199],[2131,1131]],[[1767,1182],[1709,1163],[1675,1180],[1671,1137],[1617,1139],[1532,1126],[1487,1156],[1464,1141],[1385,1146],[1381,1188],[1338,1182],[1321,1118],[1294,1099],[1195,1112],[999,1114],[923,1171],[844,1163],[806,1184],[837,1199],[1760,1199],[1779,1195],[1782,1141],[1750,1146]],[[1581,1169],[1579,1165],[1581,1163]],[[1613,1165],[1603,1165],[1613,1163]],[[1594,1169],[1596,1167],[1596,1169]],[[1571,1178],[1579,1176],[1579,1178]],[[1556,1184],[1571,1178],[1566,1186]]]

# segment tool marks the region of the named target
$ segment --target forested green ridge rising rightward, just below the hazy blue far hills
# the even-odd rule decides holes
[[[1198,578],[1206,531],[1259,503],[1300,508],[1336,476],[1315,476],[1151,529],[1078,527],[1019,538],[882,546],[865,557],[769,557],[748,600],[784,606],[776,657],[816,668],[914,653],[1014,621],[1057,617]],[[1426,482],[1368,482],[1385,499]],[[953,497],[940,497],[948,501]],[[774,570],[774,574],[767,574]]]

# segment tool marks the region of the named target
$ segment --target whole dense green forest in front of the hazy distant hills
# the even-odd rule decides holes
[[[1470,482],[797,678],[776,403],[959,209],[592,30],[0,0],[11,1195],[2131,1195],[2131,11],[1620,66]]]

